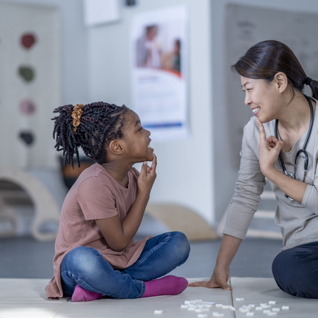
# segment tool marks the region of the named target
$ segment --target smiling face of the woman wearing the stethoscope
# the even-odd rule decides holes
[[[279,89],[275,81],[265,83],[263,79],[241,76],[241,85],[245,92],[245,105],[250,106],[252,114],[261,122],[270,122],[277,118],[281,109]]]

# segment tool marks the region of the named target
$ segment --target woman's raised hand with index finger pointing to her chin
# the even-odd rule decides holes
[[[283,148],[283,141],[278,140],[272,135],[266,139],[262,122],[258,119],[256,119],[256,121],[259,125],[259,165],[262,174],[267,176],[269,171],[276,169],[274,165]]]

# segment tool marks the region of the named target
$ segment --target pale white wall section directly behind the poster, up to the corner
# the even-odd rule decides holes
[[[189,12],[191,137],[178,142],[151,142],[158,156],[158,177],[151,191],[151,201],[186,205],[212,223],[214,189],[210,1],[139,0],[138,6],[123,8],[120,22],[89,28],[89,96],[92,101],[131,105],[131,19],[138,12],[180,4],[185,4]]]

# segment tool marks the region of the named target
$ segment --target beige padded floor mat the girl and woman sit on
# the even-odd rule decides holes
[[[194,279],[189,279],[193,281]],[[236,311],[214,306],[203,314],[215,317],[213,312],[221,312],[225,317],[247,317],[240,307],[248,304],[259,306],[274,300],[273,307],[290,306],[289,310],[280,310],[275,317],[311,318],[317,317],[318,300],[301,299],[289,296],[277,288],[273,279],[232,277],[231,291],[207,288],[188,287],[177,296],[149,297],[147,299],[99,299],[87,303],[73,303],[70,299],[48,301],[44,287],[47,279],[0,279],[0,318],[88,318],[88,317],[189,317],[197,318],[198,312],[180,308],[187,300],[201,299],[234,305]],[[236,297],[243,297],[244,301],[236,301]],[[233,301],[232,301],[233,299]],[[154,310],[163,310],[156,315]],[[254,317],[269,317],[263,310],[254,312]]]

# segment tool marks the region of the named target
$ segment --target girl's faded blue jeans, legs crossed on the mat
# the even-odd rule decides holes
[[[190,252],[187,236],[168,232],[150,238],[140,257],[124,270],[114,270],[102,254],[91,247],[76,247],[61,265],[64,296],[71,297],[77,284],[115,299],[140,298],[144,281],[157,279],[187,261]]]

